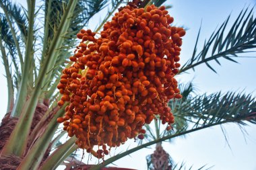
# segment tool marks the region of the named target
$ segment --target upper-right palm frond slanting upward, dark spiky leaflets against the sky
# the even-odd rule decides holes
[[[247,9],[242,10],[230,30],[227,30],[229,19],[230,16],[228,16],[228,19],[226,19],[217,31],[212,33],[212,36],[210,36],[208,40],[205,40],[202,50],[197,52],[200,27],[193,55],[187,60],[185,65],[181,67],[180,73],[194,69],[203,63],[216,73],[216,70],[210,65],[210,61],[215,60],[218,65],[220,65],[219,58],[237,62],[235,60],[236,58],[245,57],[243,54],[255,50],[256,19],[253,16],[253,9],[249,11],[247,7]],[[228,33],[225,34],[225,32]]]

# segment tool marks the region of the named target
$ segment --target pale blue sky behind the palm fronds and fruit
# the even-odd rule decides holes
[[[234,22],[241,9],[255,5],[254,0],[172,0],[166,5],[172,5],[169,9],[170,15],[174,17],[174,24],[188,28],[186,36],[183,38],[181,52],[181,64],[185,63],[193,52],[196,36],[201,24],[201,36],[199,38],[199,49],[203,45],[205,38],[209,38],[217,26],[231,14],[230,24]],[[100,13],[102,16],[102,13]],[[96,26],[99,16],[94,17],[88,28]],[[229,25],[230,26],[230,25]],[[255,55],[252,54],[252,55]],[[210,62],[217,74],[205,65],[195,68],[189,74],[179,75],[181,82],[193,80],[198,93],[214,93],[217,91],[245,91],[256,96],[256,58],[238,58],[239,62],[234,63],[227,60],[220,60],[222,66]],[[4,116],[7,105],[7,85],[4,77],[4,67],[0,65],[0,119]],[[245,127],[247,136],[238,128],[236,124],[225,124],[222,126],[226,130],[228,143],[226,142],[220,126],[207,128],[193,132],[185,138],[176,138],[171,143],[164,142],[164,150],[172,157],[175,163],[185,162],[187,167],[193,165],[193,169],[206,165],[213,170],[256,170],[256,126],[249,124]],[[116,153],[125,151],[127,147],[135,146],[133,140],[121,146]],[[115,162],[119,167],[133,169],[146,169],[146,155],[154,152],[144,148],[130,156],[124,157]]]

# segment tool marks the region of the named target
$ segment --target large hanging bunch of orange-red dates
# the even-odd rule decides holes
[[[181,98],[174,75],[185,35],[172,22],[164,6],[130,4],[99,35],[91,30],[77,34],[81,42],[70,57],[73,65],[63,70],[57,86],[62,94],[58,104],[68,102],[57,122],[77,137],[79,148],[91,153],[98,146],[97,157],[102,158],[108,155],[107,146],[142,139],[143,125],[156,115],[170,130],[174,117],[167,102]]]

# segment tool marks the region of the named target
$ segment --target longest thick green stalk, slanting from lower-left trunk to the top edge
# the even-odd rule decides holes
[[[70,23],[70,19],[76,4],[77,4],[77,0],[69,1],[66,7],[67,10],[63,14],[63,17],[61,19],[61,24],[59,25],[59,30],[55,34],[55,38],[53,38],[53,42],[49,50],[49,56],[46,57],[46,60],[44,63],[45,65],[42,67],[42,70],[39,73],[38,81],[36,82],[36,86],[32,91],[32,96],[28,99],[28,101],[26,102],[26,105],[24,105],[24,108],[22,110],[22,114],[18,120],[18,123],[16,124],[13,132],[11,133],[11,136],[9,138],[10,140],[8,140],[7,144],[5,145],[5,148],[3,149],[3,153],[6,155],[9,155],[12,153],[12,154],[21,156],[24,153],[24,151],[26,151],[26,146],[28,143],[27,139],[30,133],[30,126],[32,124],[34,111],[36,110],[36,105],[38,103],[38,97],[42,90],[42,85],[44,85],[46,80],[45,77],[47,77],[45,76],[45,73],[47,73],[47,71],[51,69],[51,65],[52,65],[51,63],[53,63],[54,60],[56,60],[56,58],[52,55],[54,54],[57,46],[61,44],[61,40],[59,39],[68,28],[67,23]],[[32,1],[32,4],[30,5],[34,6],[34,1]],[[30,9],[30,16],[33,13],[34,13],[34,10]],[[30,19],[30,22],[31,22],[31,19]],[[28,32],[29,34],[33,33],[32,30],[30,30],[30,27]],[[30,36],[28,37],[28,40],[30,40]],[[28,49],[29,48],[27,47],[26,50]],[[25,77],[26,76],[24,76],[24,78]],[[22,79],[22,82],[23,81],[24,79]],[[20,87],[20,89],[22,89],[22,87]]]

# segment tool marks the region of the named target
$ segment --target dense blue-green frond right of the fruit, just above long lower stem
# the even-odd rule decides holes
[[[181,105],[177,112],[174,112],[174,116],[185,118],[195,127],[236,118],[238,124],[245,125],[241,117],[256,124],[255,117],[251,117],[256,108],[256,101],[251,95],[234,92],[203,94],[187,99]]]

